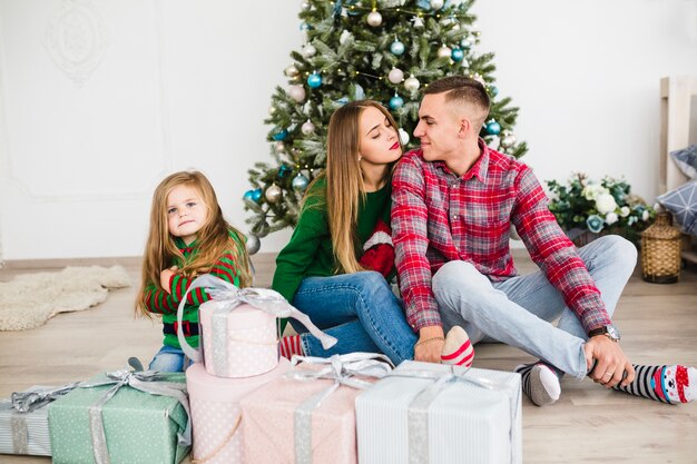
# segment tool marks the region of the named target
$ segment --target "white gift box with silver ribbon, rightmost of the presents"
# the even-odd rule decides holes
[[[404,362],[356,399],[359,462],[519,464],[520,398],[517,373]]]

